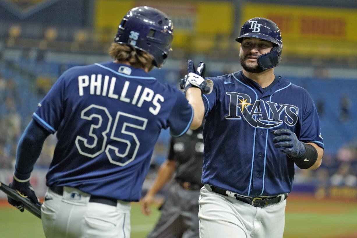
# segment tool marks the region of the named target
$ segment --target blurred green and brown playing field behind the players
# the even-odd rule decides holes
[[[131,238],[144,238],[159,217],[132,205]],[[288,199],[284,238],[357,238],[357,203]],[[40,219],[12,207],[0,208],[0,238],[44,238]],[[224,237],[224,235],[222,236]]]

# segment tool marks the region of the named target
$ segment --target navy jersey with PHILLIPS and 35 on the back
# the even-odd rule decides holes
[[[47,186],[138,201],[160,130],[186,133],[193,110],[144,70],[106,62],[67,70],[32,118],[57,132]]]

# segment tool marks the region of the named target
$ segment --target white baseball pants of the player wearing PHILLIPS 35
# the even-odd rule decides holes
[[[90,194],[64,187],[63,195],[47,190],[41,207],[46,238],[130,238],[130,203],[116,207],[89,202]]]

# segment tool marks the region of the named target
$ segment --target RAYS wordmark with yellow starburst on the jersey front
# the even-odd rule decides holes
[[[284,103],[274,103],[268,100],[252,101],[243,93],[226,92],[230,99],[227,120],[242,120],[242,117],[252,127],[271,129],[285,123],[290,127],[298,120],[299,108]]]

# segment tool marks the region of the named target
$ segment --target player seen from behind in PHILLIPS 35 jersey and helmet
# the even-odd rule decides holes
[[[47,238],[130,237],[130,202],[141,197],[161,129],[181,136],[202,124],[195,102],[147,74],[165,63],[172,31],[161,11],[131,9],[109,49],[114,62],[67,70],[38,104],[10,186],[37,201],[30,173],[45,138],[56,133],[41,208]]]

